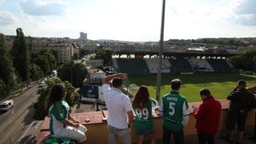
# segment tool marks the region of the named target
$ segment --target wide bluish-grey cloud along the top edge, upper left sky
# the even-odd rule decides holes
[[[69,5],[60,1],[26,0],[19,4],[27,15],[67,15]]]

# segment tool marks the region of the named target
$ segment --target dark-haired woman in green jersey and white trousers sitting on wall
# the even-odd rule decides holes
[[[69,104],[66,102],[66,87],[56,84],[51,87],[46,106],[49,115],[49,130],[52,137],[74,139],[86,143],[87,129],[69,115]]]

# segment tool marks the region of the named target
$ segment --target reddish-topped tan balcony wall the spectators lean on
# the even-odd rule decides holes
[[[220,120],[220,127],[219,127],[219,134],[217,135],[217,138],[226,136],[226,129],[225,125],[227,122],[227,114],[228,114],[228,108],[229,108],[229,100],[220,100],[222,105],[222,111],[221,111],[221,120]],[[198,107],[200,102],[194,102],[189,103],[189,111],[192,112],[191,106],[194,105]],[[86,126],[88,129],[86,136],[87,136],[87,142],[89,144],[104,144],[108,143],[108,131],[107,131],[107,124],[106,121],[102,120],[102,118],[107,117],[107,110],[104,111],[95,111],[95,112],[84,112],[84,113],[73,113],[72,116],[75,117],[78,121],[80,121],[81,124]],[[163,130],[162,130],[162,118],[158,117],[155,114],[155,110],[153,111],[154,115],[154,126],[155,126],[155,139],[162,139],[163,136]],[[255,116],[255,109],[252,109],[249,114],[246,121],[247,126],[247,132],[251,132],[252,127],[254,126],[254,117]],[[90,121],[86,122],[85,119],[89,118]],[[185,134],[185,142],[186,143],[197,143],[197,133],[194,130],[194,126],[196,123],[196,119],[192,116],[192,114],[189,115],[189,121],[187,123],[187,126],[184,128],[184,134]],[[136,135],[135,131],[133,129],[133,124],[131,125],[131,132],[132,132],[132,141],[133,143],[136,142]],[[48,118],[45,118],[41,130],[38,134],[37,144],[42,143],[42,141],[48,136]],[[148,140],[148,138],[144,139],[145,141]],[[120,141],[119,141],[120,143]]]

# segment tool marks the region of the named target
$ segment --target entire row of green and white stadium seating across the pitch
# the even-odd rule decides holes
[[[118,72],[130,75],[156,74],[158,72],[157,58],[112,58],[112,64]],[[172,57],[162,61],[162,73],[222,73],[235,71],[236,69],[226,59]]]

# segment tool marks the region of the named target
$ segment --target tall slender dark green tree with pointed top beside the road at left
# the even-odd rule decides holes
[[[26,44],[25,36],[21,28],[16,29],[16,38],[13,46],[14,67],[22,81],[30,80],[30,54]]]

